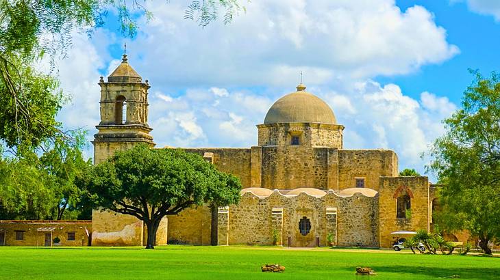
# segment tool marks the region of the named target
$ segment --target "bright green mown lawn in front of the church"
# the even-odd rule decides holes
[[[263,273],[279,263],[284,273]],[[297,250],[273,247],[138,248],[0,247],[0,279],[376,279],[500,278],[500,258],[412,255],[382,250]]]

